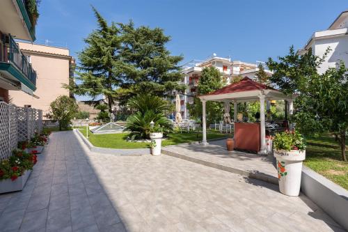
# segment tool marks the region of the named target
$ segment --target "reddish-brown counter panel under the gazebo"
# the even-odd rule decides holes
[[[260,123],[235,123],[235,148],[258,152],[261,146]]]

